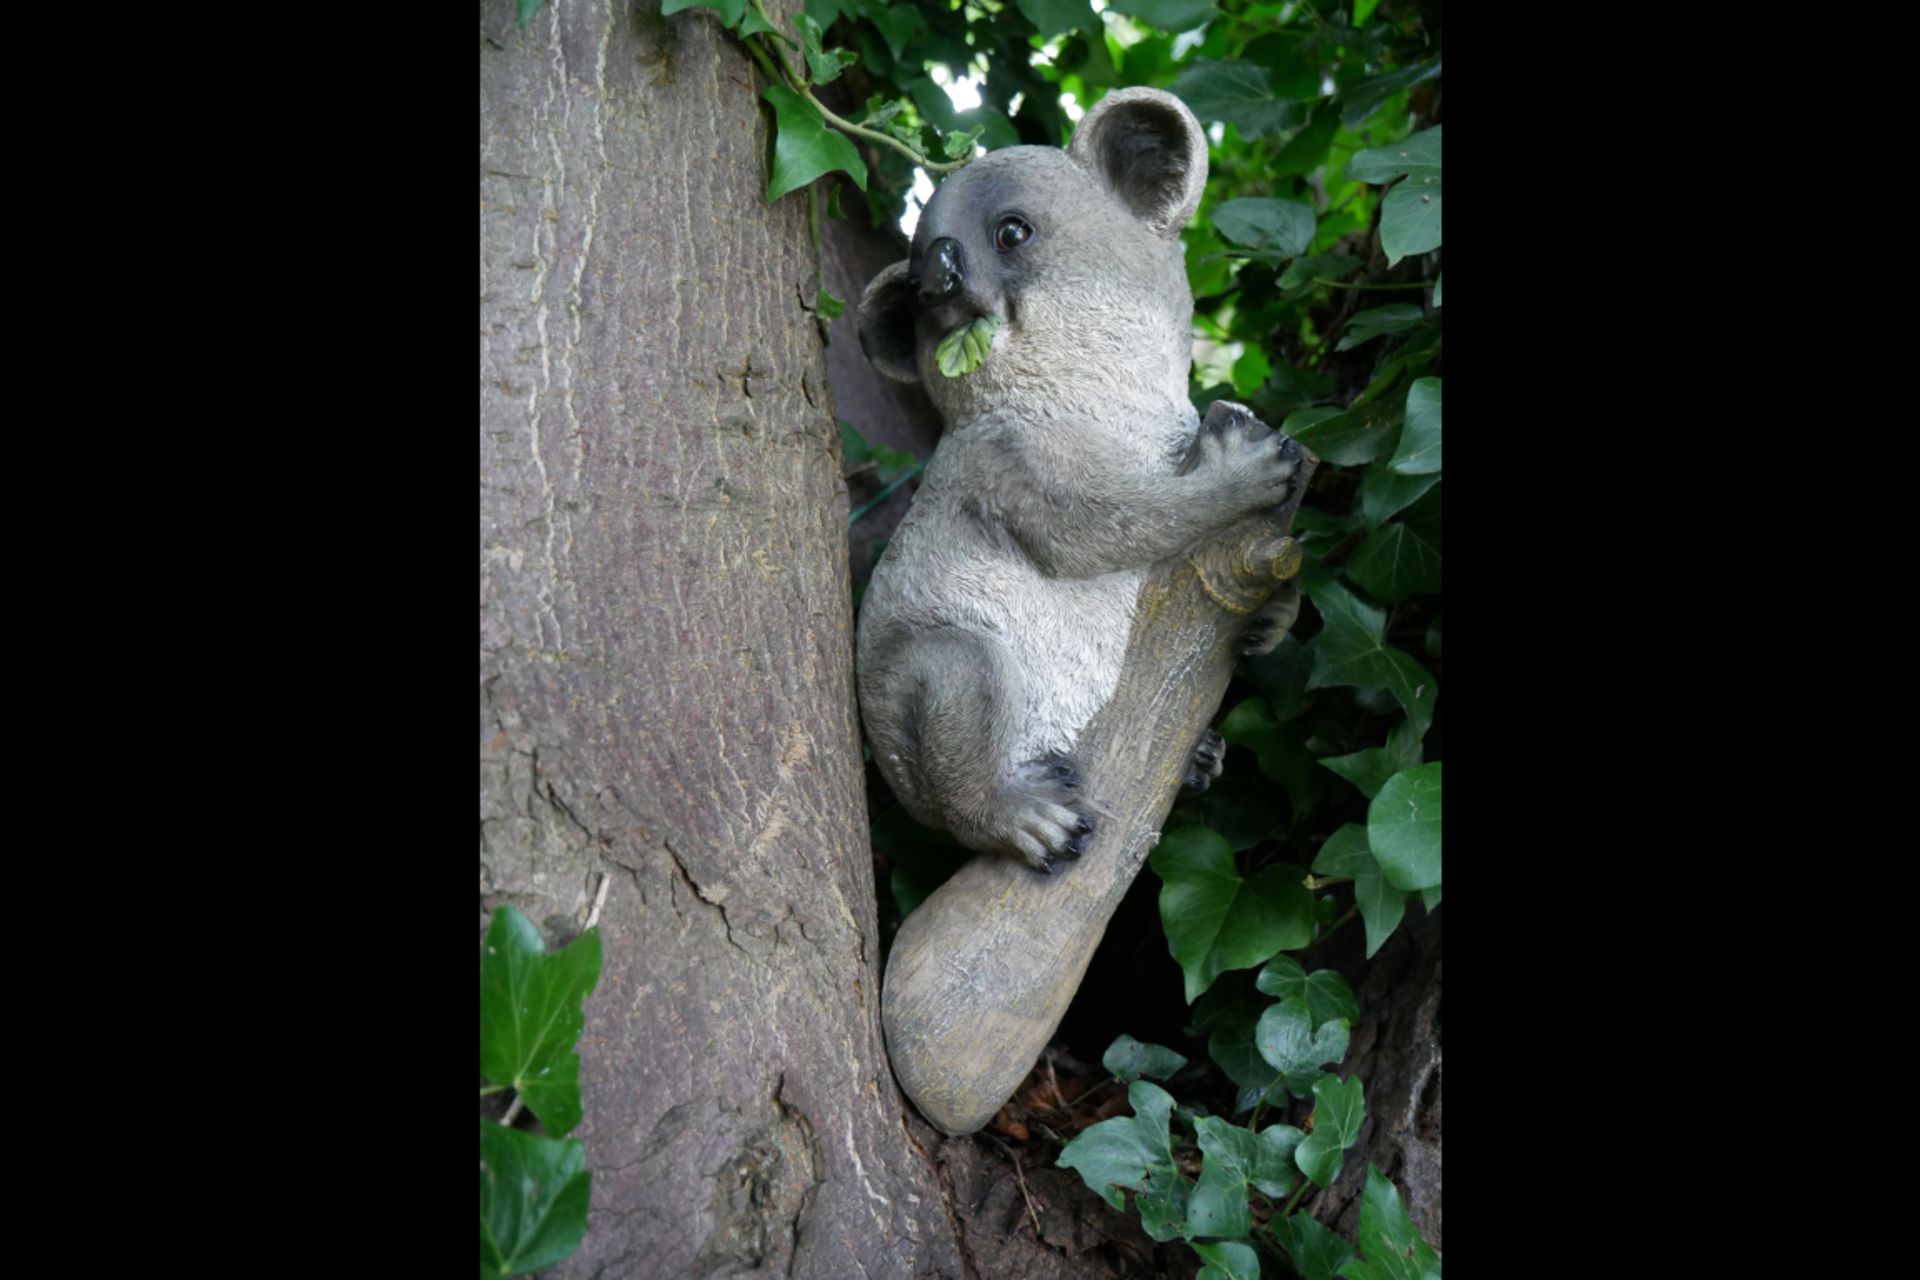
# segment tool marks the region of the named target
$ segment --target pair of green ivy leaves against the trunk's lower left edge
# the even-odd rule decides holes
[[[599,933],[549,952],[511,906],[493,913],[480,958],[482,1096],[518,1092],[547,1130],[480,1121],[480,1276],[518,1276],[559,1263],[588,1228],[586,1148],[564,1134],[582,1119],[584,1002],[599,983]]]

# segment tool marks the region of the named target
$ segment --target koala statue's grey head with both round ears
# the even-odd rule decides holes
[[[947,178],[912,257],[860,297],[860,349],[920,382],[954,424],[989,409],[1187,403],[1192,292],[1181,228],[1206,188],[1206,134],[1173,94],[1121,88],[1064,152],[1016,146]],[[935,347],[998,320],[987,361],[948,378]]]

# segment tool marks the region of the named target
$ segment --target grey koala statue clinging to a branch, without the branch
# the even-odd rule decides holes
[[[912,255],[860,297],[868,361],[924,384],[947,428],[862,601],[868,741],[916,819],[1043,873],[1092,833],[1073,747],[1119,681],[1148,568],[1279,507],[1300,470],[1244,409],[1202,430],[1187,397],[1179,234],[1206,173],[1179,98],[1116,90],[1066,150],[948,177]],[[960,334],[985,359],[950,376]],[[1277,597],[1256,647],[1294,608]],[[1188,785],[1221,747],[1202,739]]]

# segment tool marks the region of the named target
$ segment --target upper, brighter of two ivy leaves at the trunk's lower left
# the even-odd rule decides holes
[[[555,1138],[582,1119],[582,1002],[599,983],[599,931],[557,952],[511,906],[493,912],[480,958],[480,1073],[511,1084]]]

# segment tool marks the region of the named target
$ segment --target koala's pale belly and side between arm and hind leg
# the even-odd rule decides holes
[[[1048,578],[1006,547],[956,537],[958,522],[912,524],[910,512],[868,583],[862,641],[868,628],[874,639],[960,628],[995,641],[1020,672],[1016,758],[1069,750],[1119,683],[1144,574]]]

